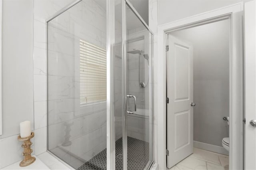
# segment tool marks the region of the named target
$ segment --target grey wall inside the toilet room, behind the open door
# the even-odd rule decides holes
[[[194,140],[222,146],[229,112],[229,20],[174,32],[194,47]]]

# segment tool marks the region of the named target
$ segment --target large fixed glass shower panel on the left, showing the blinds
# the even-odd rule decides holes
[[[47,22],[48,150],[76,169],[106,169],[106,1]]]

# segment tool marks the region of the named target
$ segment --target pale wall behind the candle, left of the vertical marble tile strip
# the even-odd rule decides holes
[[[33,117],[33,1],[2,3],[2,125],[0,168],[22,159],[20,122]],[[34,139],[32,139],[34,143]],[[32,146],[34,149],[34,146]]]

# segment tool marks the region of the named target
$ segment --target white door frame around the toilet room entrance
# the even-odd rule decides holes
[[[240,2],[158,26],[158,165],[166,169],[166,34],[230,18],[230,151],[229,169],[244,168],[244,55],[243,10]],[[239,105],[237,104],[239,103]],[[241,135],[242,134],[242,135]]]

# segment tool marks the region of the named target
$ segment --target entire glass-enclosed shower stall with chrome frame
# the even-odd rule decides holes
[[[149,169],[147,24],[128,0],[77,0],[46,23],[48,151],[78,170]]]

